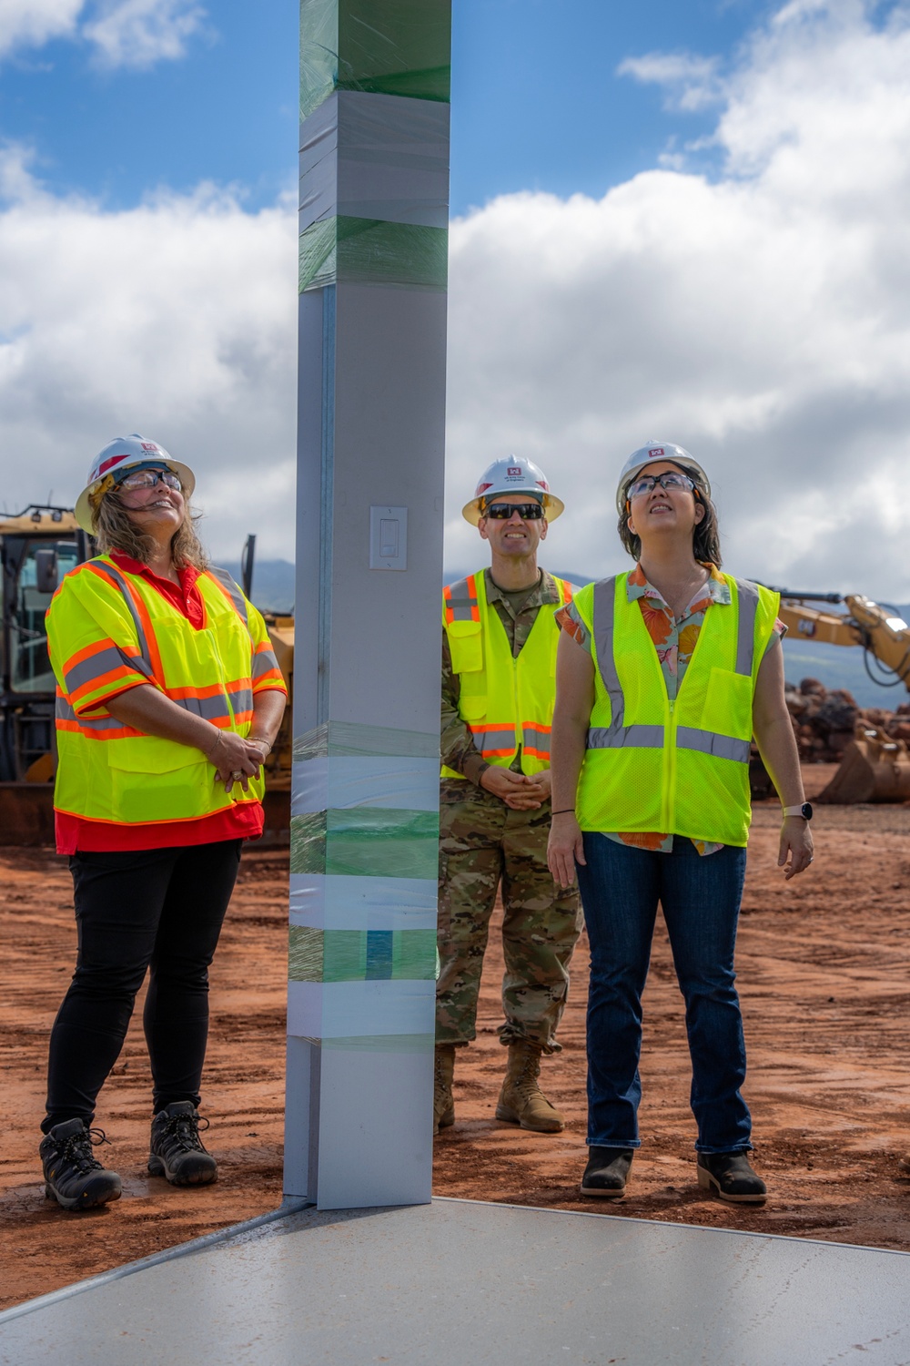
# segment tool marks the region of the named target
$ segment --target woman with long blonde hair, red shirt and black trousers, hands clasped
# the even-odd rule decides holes
[[[76,501],[101,553],[67,574],[48,611],[57,850],[79,951],[50,1033],[40,1153],[46,1194],[65,1209],[120,1197],[91,1123],[149,967],[149,1171],[175,1186],[217,1179],[198,1112],[207,968],[241,843],[262,833],[262,764],[287,690],[262,617],[209,567],[194,486],[157,443],[109,443]]]

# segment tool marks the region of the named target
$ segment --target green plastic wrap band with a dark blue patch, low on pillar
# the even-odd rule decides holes
[[[291,926],[292,982],[428,982],[435,978],[434,930],[319,930]]]

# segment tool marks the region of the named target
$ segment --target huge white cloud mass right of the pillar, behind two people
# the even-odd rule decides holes
[[[910,598],[910,27],[789,5],[727,76],[716,183],[651,171],[595,202],[510,195],[452,242],[449,563],[487,459],[539,460],[569,511],[547,559],[619,567],[623,456],[715,475],[727,559]]]

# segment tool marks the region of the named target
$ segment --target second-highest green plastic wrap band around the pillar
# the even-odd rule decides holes
[[[449,279],[449,232],[382,219],[321,219],[300,234],[297,287],[397,284],[443,292]]]

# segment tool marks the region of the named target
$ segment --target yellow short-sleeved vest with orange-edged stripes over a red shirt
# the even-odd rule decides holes
[[[244,792],[216,781],[201,750],[117,721],[105,699],[136,684],[213,727],[248,735],[252,693],[284,687],[265,623],[221,570],[199,575],[201,630],[139,574],[108,556],[65,575],[48,609],[57,679],[55,807],[117,825],[191,821],[258,802],[262,770]]]

